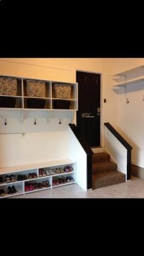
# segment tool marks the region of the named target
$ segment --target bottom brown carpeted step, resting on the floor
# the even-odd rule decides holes
[[[112,186],[126,181],[126,175],[118,171],[101,172],[93,175],[93,189]]]

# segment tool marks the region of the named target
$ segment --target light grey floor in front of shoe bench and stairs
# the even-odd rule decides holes
[[[32,192],[26,195],[9,197],[27,198],[144,198],[144,180],[132,176],[126,183],[84,191],[80,186],[71,184],[54,189]]]

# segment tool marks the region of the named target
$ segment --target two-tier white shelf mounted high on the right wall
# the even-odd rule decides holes
[[[113,87],[131,86],[144,82],[144,65],[117,73],[113,76],[113,80],[117,81]]]

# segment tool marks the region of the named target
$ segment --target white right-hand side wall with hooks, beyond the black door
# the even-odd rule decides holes
[[[144,59],[106,59],[107,75],[114,75],[144,64]],[[144,68],[143,68],[144,75]],[[110,122],[132,146],[132,163],[144,167],[144,82],[112,90],[113,81],[107,83],[106,122]],[[129,99],[129,104],[126,103]]]

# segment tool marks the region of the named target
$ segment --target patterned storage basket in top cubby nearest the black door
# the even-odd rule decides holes
[[[71,98],[71,84],[53,84],[54,98]]]

